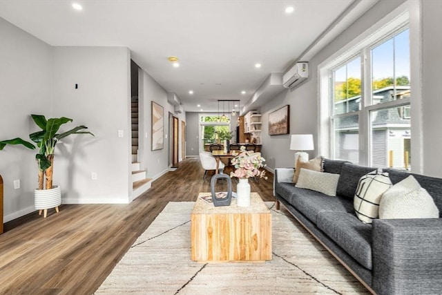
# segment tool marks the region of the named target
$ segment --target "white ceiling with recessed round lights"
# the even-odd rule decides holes
[[[184,111],[217,111],[218,99],[247,104],[363,1],[0,0],[0,17],[52,46],[126,46]]]

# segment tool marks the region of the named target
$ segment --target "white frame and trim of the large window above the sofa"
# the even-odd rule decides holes
[[[338,117],[348,115],[358,115],[359,127],[359,163],[369,166],[372,163],[372,135],[371,122],[369,115],[371,111],[378,111],[384,108],[400,107],[410,105],[411,129],[413,133],[412,140],[412,171],[419,173],[421,171],[421,82],[419,80],[419,60],[421,56],[421,48],[419,47],[420,23],[419,3],[407,1],[395,10],[386,15],[383,19],[375,23],[371,28],[367,29],[363,34],[350,41],[349,44],[343,46],[341,50],[334,55],[325,59],[318,65],[318,149],[321,155],[326,157],[334,156],[334,126],[333,120]],[[371,68],[371,50],[382,44],[387,39],[398,35],[403,30],[410,30],[410,89],[412,88],[413,99],[405,97],[390,102],[372,104],[372,68]],[[329,99],[330,93],[334,90],[332,69],[339,68],[345,62],[351,61],[357,55],[361,55],[361,109],[350,113],[332,115],[331,108],[334,106]],[[417,56],[418,58],[412,58]],[[414,70],[418,69],[418,71]],[[396,75],[396,73],[395,73]],[[396,78],[396,77],[395,77]],[[365,86],[369,82],[370,86]],[[412,101],[413,102],[412,102]]]

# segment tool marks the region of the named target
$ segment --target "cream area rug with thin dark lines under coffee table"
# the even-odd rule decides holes
[[[191,260],[194,202],[169,202],[95,294],[369,294],[289,213],[272,214],[273,259]]]

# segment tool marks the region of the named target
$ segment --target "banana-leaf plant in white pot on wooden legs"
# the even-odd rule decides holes
[[[35,155],[35,160],[39,170],[39,186],[38,189],[35,189],[35,209],[39,210],[39,214],[44,210],[44,217],[46,218],[49,208],[55,207],[55,210],[58,212],[58,206],[61,204],[61,189],[58,186],[52,185],[54,152],[57,142],[72,134],[93,135],[93,133],[84,131],[88,129],[88,127],[84,125],[77,126],[64,133],[57,133],[61,125],[73,122],[73,120],[67,117],[50,118],[46,120],[44,115],[31,115],[31,117],[35,124],[41,129],[41,131],[29,135],[30,140],[35,142],[35,144],[17,137],[12,140],[0,141],[0,150],[7,144],[21,144],[28,149],[35,149],[37,146],[38,152]]]

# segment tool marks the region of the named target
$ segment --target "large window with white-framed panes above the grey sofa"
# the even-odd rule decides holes
[[[328,154],[355,164],[410,170],[407,21],[357,46],[320,68],[321,107],[329,110],[322,125],[328,126]]]

